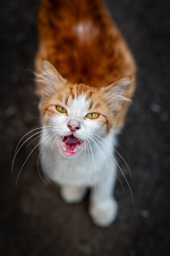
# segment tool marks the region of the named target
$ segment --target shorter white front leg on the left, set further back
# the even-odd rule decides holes
[[[65,200],[66,203],[69,204],[79,203],[80,201],[82,201],[86,192],[86,189],[68,186],[62,186],[60,189],[60,194],[62,198]]]

